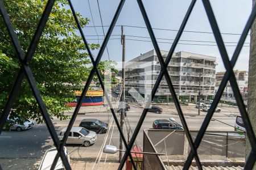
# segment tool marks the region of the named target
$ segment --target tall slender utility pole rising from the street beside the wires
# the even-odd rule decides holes
[[[121,45],[123,45],[123,54],[122,54],[122,108],[121,108],[121,116],[120,116],[120,126],[121,130],[123,132],[123,123],[125,120],[125,35],[123,35],[123,26],[121,27],[122,35],[121,35]],[[123,153],[121,150],[123,150],[123,140],[121,135],[119,136],[119,162],[121,162],[123,158]]]

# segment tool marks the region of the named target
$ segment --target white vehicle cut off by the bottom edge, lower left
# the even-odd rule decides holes
[[[68,158],[68,162],[70,162],[69,154],[68,154],[67,148],[65,146],[64,146],[64,153]],[[44,154],[44,156],[43,156],[43,159],[42,159],[42,161],[39,165],[38,170],[50,170],[56,154],[57,154],[57,149],[56,148],[48,149],[46,151],[46,153]],[[58,159],[58,162],[57,162],[54,169],[55,170],[64,170],[65,169],[60,158]]]

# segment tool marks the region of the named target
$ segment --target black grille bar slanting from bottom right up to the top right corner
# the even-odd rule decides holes
[[[254,5],[253,11],[251,12],[251,15],[250,15],[250,17],[249,17],[249,19],[248,19],[248,21],[246,23],[246,26],[243,29],[242,35],[240,37],[240,40],[238,41],[238,45],[237,45],[236,50],[235,50],[235,52],[233,54],[233,57],[231,59],[232,69],[233,69],[234,65],[236,64],[236,61],[237,61],[238,56],[239,56],[239,54],[241,52],[241,49],[242,49],[242,45],[245,42],[245,39],[247,37],[247,33],[249,32],[251,25],[254,22],[255,16],[256,16],[256,6]],[[201,139],[203,138],[203,135],[204,135],[204,133],[205,133],[209,123],[210,123],[210,120],[211,120],[211,118],[213,116],[215,108],[217,107],[218,101],[220,100],[220,98],[222,96],[222,93],[224,91],[224,88],[226,87],[226,84],[228,83],[229,76],[230,76],[229,72],[226,71],[226,73],[224,75],[224,78],[221,81],[220,87],[218,88],[217,94],[214,97],[213,103],[210,105],[210,108],[209,108],[209,111],[207,113],[207,116],[205,117],[205,120],[204,120],[203,124],[201,125],[199,133],[197,134],[197,137],[195,139],[195,147],[196,148],[200,145]],[[247,116],[247,114],[245,116]],[[249,119],[246,118],[243,121],[246,121],[246,120],[249,120]],[[255,138],[255,137],[253,137],[253,138]],[[193,156],[194,156],[193,153],[190,152],[189,156],[188,156],[188,159],[185,162],[184,169],[188,169],[190,167],[192,159],[193,159]]]

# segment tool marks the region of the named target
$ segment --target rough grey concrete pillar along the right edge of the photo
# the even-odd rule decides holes
[[[256,0],[253,0],[253,5]],[[251,26],[250,32],[250,57],[249,57],[249,76],[248,76],[248,116],[250,118],[251,125],[253,126],[254,133],[256,134],[256,22],[254,20]],[[247,135],[246,135],[247,137]],[[249,140],[246,138],[246,159],[248,158],[251,146]],[[254,168],[256,169],[256,164]]]

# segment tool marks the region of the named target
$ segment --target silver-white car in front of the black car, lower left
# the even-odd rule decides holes
[[[64,128],[60,132],[59,138],[62,139],[67,128]],[[67,144],[84,144],[88,147],[95,143],[97,140],[97,134],[94,131],[87,130],[82,127],[72,127],[68,135]]]

